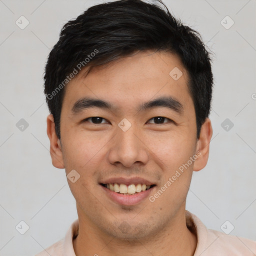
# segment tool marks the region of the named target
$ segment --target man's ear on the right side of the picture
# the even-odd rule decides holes
[[[193,170],[198,171],[205,167],[209,156],[209,144],[212,136],[212,127],[209,118],[201,126],[200,135],[196,143],[198,157],[194,161]]]

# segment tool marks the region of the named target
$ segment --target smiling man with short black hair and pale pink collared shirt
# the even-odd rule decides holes
[[[256,253],[185,210],[212,136],[196,31],[157,4],[95,5],[64,25],[44,79],[52,164],[65,168],[78,220],[38,255]]]

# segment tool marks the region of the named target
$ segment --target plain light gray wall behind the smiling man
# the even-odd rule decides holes
[[[0,255],[33,255],[77,218],[64,169],[51,165],[42,75],[61,26],[100,2],[0,0]],[[228,220],[230,234],[256,240],[256,1],[164,3],[214,52],[210,155],[193,174],[187,209],[208,228],[221,231]],[[24,29],[15,24],[21,15],[29,21]],[[221,24],[226,15],[234,21],[229,29]],[[226,118],[234,124],[228,130]],[[15,229],[21,220],[29,226],[23,235]]]

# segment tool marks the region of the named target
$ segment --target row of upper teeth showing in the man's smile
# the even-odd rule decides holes
[[[114,192],[119,192],[122,194],[134,194],[138,193],[141,191],[145,191],[150,187],[150,185],[146,184],[130,184],[130,185],[125,185],[125,184],[117,184],[117,183],[108,183],[106,184],[106,187],[109,188],[111,191]]]

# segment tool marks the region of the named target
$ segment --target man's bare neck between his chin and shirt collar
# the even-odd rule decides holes
[[[80,212],[82,213],[82,212]],[[80,216],[80,217],[79,217]],[[197,238],[191,233],[185,222],[185,209],[167,223],[165,228],[154,233],[151,237],[127,240],[111,236],[89,221],[84,214],[79,214],[79,233],[73,239],[76,255],[185,255],[194,254]]]

